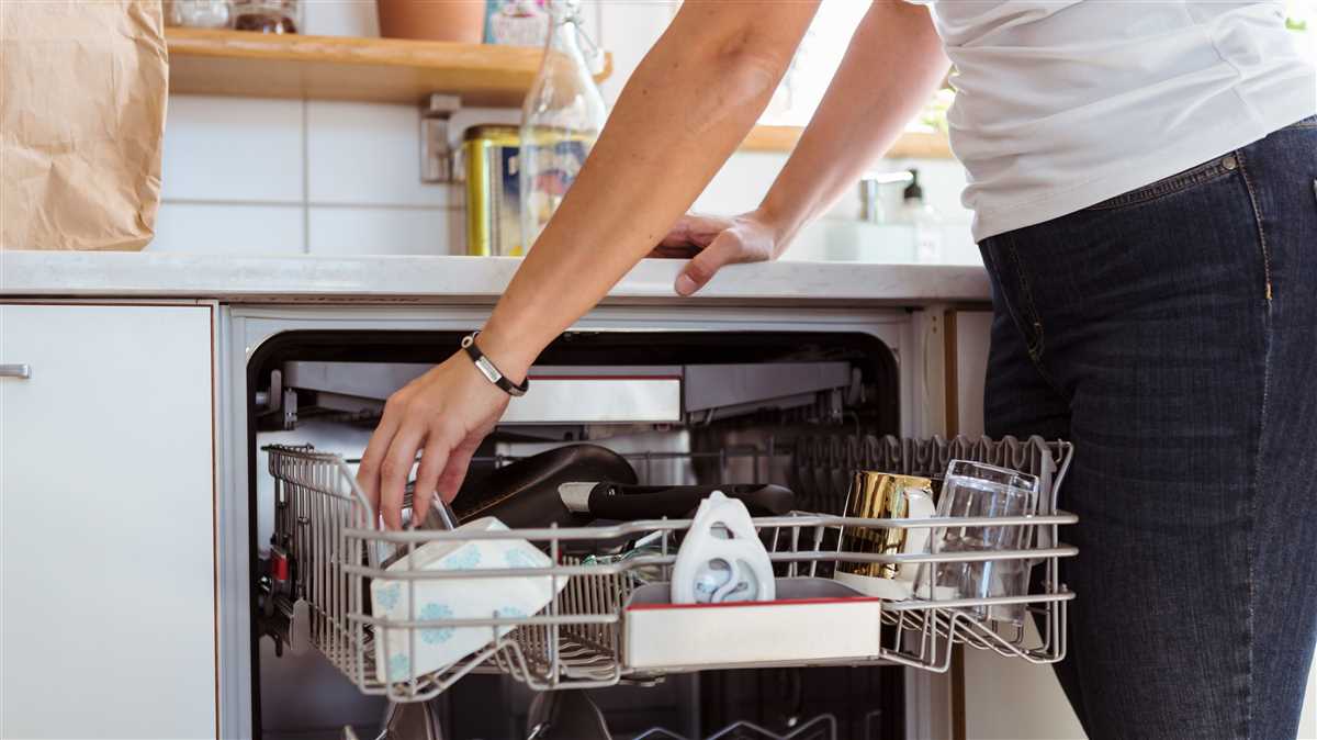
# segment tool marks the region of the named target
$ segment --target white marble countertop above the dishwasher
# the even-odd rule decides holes
[[[493,302],[518,258],[250,257],[178,253],[0,251],[3,298],[205,298],[227,302]],[[680,259],[645,259],[610,302],[678,298]],[[698,294],[702,303],[926,304],[989,300],[982,267],[770,262],[734,265]]]

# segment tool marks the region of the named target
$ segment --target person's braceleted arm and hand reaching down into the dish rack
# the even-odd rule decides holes
[[[535,357],[593,308],[690,207],[768,105],[818,0],[687,0],[627,82],[576,183],[479,337],[520,381]],[[535,392],[533,390],[531,392]],[[416,452],[416,515],[457,492],[507,398],[452,357],[389,399],[358,481],[400,524]]]

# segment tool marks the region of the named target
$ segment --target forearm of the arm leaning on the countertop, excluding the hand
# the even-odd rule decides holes
[[[778,234],[778,253],[892,146],[948,67],[925,8],[874,0],[760,204],[761,219]]]

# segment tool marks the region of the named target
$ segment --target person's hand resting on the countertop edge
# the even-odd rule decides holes
[[[691,295],[705,287],[723,265],[777,259],[784,248],[777,229],[757,211],[731,217],[687,213],[677,220],[651,254],[694,254],[681,275],[677,275],[674,286],[678,295]]]

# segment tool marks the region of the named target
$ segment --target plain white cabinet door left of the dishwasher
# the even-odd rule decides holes
[[[215,737],[211,308],[0,305],[3,737]]]

